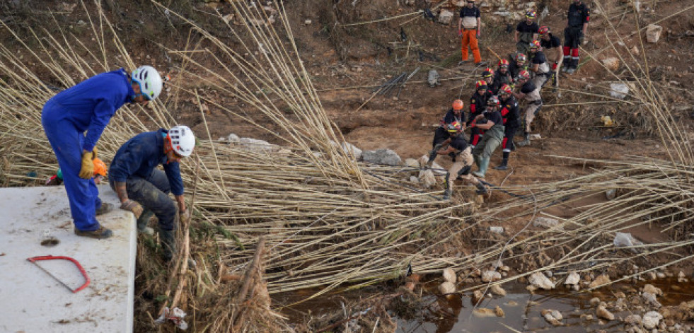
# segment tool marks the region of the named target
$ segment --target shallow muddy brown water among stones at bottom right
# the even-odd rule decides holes
[[[678,284],[670,279],[649,281],[650,284],[661,288],[664,296],[658,300],[664,305],[678,305],[682,301],[694,300],[694,284]],[[507,284],[504,288],[507,296],[485,298],[478,308],[494,309],[499,306],[504,311],[504,317],[483,316],[473,312],[470,294],[463,297],[449,296],[436,298],[428,296],[424,302],[430,303],[429,313],[423,314],[420,320],[398,320],[398,333],[446,333],[446,332],[514,332],[511,327],[521,332],[591,332],[605,329],[606,332],[624,332],[624,325],[618,321],[598,321],[595,307],[590,299],[598,297],[603,301],[613,301],[613,293],[623,291],[628,299],[637,296],[637,291],[643,284],[615,284],[607,291],[594,293],[578,293],[567,291],[563,286],[553,291],[538,291],[531,294],[526,285]],[[627,303],[630,304],[630,303]],[[615,317],[630,315],[629,305],[624,312],[613,312]],[[555,327],[545,321],[541,315],[543,310],[558,310],[562,313],[562,326]],[[642,313],[638,313],[642,315]],[[592,315],[592,320],[586,320],[582,315]]]

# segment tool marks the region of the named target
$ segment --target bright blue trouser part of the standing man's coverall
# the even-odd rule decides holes
[[[50,101],[46,103],[41,115],[43,130],[63,173],[75,228],[82,231],[97,230],[99,223],[96,221],[96,209],[101,206],[99,191],[94,178],[79,177],[84,134],[72,122],[64,119],[64,115],[66,112],[62,107]]]

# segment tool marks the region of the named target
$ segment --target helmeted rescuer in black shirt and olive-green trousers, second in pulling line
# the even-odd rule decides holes
[[[476,177],[485,177],[492,153],[504,139],[504,120],[499,112],[499,105],[499,98],[492,96],[487,100],[487,110],[482,115],[477,115],[470,124],[470,127],[478,127],[485,132],[480,143],[473,148],[473,158],[478,166],[478,170],[473,173]]]

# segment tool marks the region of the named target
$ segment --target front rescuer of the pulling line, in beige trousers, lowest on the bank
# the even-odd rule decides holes
[[[461,122],[449,124],[447,130],[450,133],[450,137],[444,142],[444,146],[446,147],[440,148],[436,151],[436,155],[434,155],[434,158],[437,155],[448,155],[453,159],[453,165],[451,165],[451,168],[449,168],[449,171],[446,173],[444,200],[451,199],[453,182],[458,178],[462,178],[464,182],[475,185],[478,188],[478,194],[487,193],[485,185],[477,178],[470,175],[470,168],[473,165],[473,156],[470,155],[472,148],[468,145],[468,141],[465,140],[465,136],[463,135],[464,129]],[[429,158],[429,167],[434,163],[434,158]]]

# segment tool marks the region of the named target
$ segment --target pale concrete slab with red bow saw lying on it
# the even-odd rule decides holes
[[[132,213],[117,209],[116,194],[99,186],[115,205],[98,217],[113,230],[106,240],[74,235],[64,187],[0,189],[0,332],[132,332],[137,233]],[[45,233],[58,240],[42,246]],[[91,284],[72,293],[29,257],[76,259]],[[38,262],[71,288],[83,284],[71,262]]]

